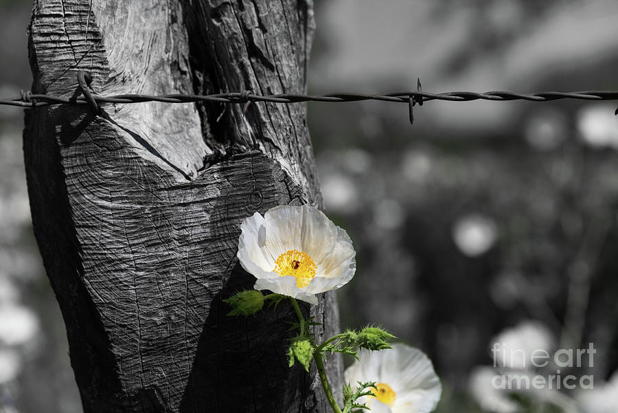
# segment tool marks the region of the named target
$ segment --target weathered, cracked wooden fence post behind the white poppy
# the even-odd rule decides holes
[[[310,0],[38,0],[32,89],[71,97],[86,70],[100,95],[302,93],[313,27]],[[321,204],[304,104],[43,107],[24,152],[85,412],[327,411],[314,368],[288,368],[291,307],[221,302],[255,280],[242,219]],[[303,311],[339,328],[330,293]]]

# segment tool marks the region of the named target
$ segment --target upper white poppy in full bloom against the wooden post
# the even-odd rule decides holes
[[[271,290],[317,304],[317,293],[338,289],[354,276],[354,247],[347,233],[310,205],[282,205],[240,224],[238,259]]]

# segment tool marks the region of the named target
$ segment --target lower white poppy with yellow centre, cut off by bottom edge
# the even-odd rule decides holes
[[[393,344],[391,350],[358,353],[359,361],[345,370],[345,381],[376,381],[375,397],[358,399],[373,413],[428,413],[435,409],[442,385],[431,360],[417,348]]]

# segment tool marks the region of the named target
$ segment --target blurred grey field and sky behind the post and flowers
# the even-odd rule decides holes
[[[310,92],[618,89],[613,0],[330,0]],[[30,88],[32,4],[0,1],[0,97]],[[618,411],[617,102],[310,104],[325,212],[357,251],[342,326],[433,360],[439,412]],[[78,413],[28,208],[23,111],[0,107],[0,412]],[[597,349],[594,390],[506,394],[490,347]],[[512,366],[503,366],[509,368]],[[550,366],[551,368],[551,366]],[[545,372],[547,373],[547,371]]]

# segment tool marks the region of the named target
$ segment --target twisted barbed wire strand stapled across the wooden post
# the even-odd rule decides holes
[[[211,95],[193,95],[183,93],[172,93],[167,95],[144,95],[144,94],[122,94],[113,96],[99,96],[92,93],[89,85],[92,82],[91,76],[86,71],[78,71],[78,90],[73,93],[71,98],[61,98],[59,96],[33,94],[30,91],[21,91],[21,95],[0,99],[0,105],[23,107],[34,109],[36,107],[49,106],[54,104],[89,104],[91,111],[95,114],[101,113],[100,103],[130,104],[143,102],[164,102],[164,103],[195,103],[195,102],[216,102],[224,104],[245,104],[244,110],[251,102],[271,102],[271,103],[299,103],[299,102],[359,102],[363,100],[378,100],[382,102],[406,103],[409,105],[410,122],[414,122],[413,107],[415,104],[422,106],[423,102],[430,100],[445,100],[448,102],[470,102],[472,100],[492,100],[492,101],[511,101],[529,100],[531,102],[549,102],[560,99],[577,100],[618,100],[618,91],[574,91],[574,92],[536,92],[536,93],[513,93],[507,91],[489,92],[470,92],[453,91],[444,93],[429,93],[422,91],[420,79],[417,81],[416,91],[400,91],[393,93],[366,94],[366,93],[327,93],[322,95],[306,95],[302,93],[278,93],[271,95],[260,95],[253,91],[214,93]],[[82,97],[80,97],[80,94]],[[618,115],[618,109],[615,111]]]

